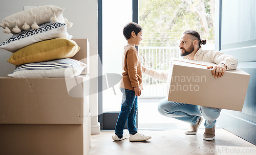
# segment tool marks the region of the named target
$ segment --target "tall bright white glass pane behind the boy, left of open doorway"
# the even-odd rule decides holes
[[[102,1],[103,74],[122,74],[123,46],[127,43],[123,37],[122,30],[126,23],[132,21],[132,16],[132,0]],[[108,81],[111,80],[113,82],[113,79],[108,79]],[[117,82],[114,80],[114,83]],[[113,87],[102,92],[103,112],[120,111],[122,94],[118,84]]]

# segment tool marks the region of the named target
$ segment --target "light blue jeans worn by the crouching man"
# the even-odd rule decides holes
[[[220,116],[221,109],[167,101],[167,97],[165,97],[159,102],[158,111],[166,117],[172,117],[190,125],[197,124],[199,117],[203,116],[205,128],[211,128],[214,127],[216,119]]]

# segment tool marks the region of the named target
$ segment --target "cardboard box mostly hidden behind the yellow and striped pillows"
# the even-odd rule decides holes
[[[80,47],[80,50],[78,53],[72,57],[72,59],[79,60],[85,64],[87,64],[87,67],[84,68],[81,75],[89,74],[90,73],[90,44],[88,39],[77,39],[74,38],[74,40],[77,45]]]

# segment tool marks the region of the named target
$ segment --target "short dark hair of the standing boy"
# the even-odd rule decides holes
[[[138,33],[141,32],[141,30],[142,30],[142,27],[139,24],[137,24],[136,22],[129,22],[123,28],[123,36],[126,40],[128,40],[132,37],[131,33],[133,31],[137,36]]]

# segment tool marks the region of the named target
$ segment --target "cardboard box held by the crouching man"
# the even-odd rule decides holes
[[[225,71],[215,79],[207,66],[213,63],[173,59],[168,100],[205,107],[242,111],[250,75],[243,70]]]

